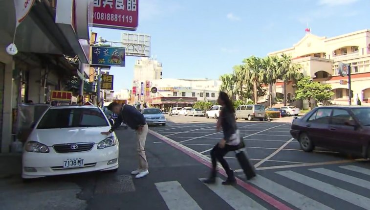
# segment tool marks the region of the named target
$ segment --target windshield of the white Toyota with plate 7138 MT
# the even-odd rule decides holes
[[[109,123],[99,109],[49,109],[37,129],[107,127]]]

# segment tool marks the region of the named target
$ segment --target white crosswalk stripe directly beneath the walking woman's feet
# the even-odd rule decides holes
[[[203,181],[204,179],[199,180]],[[217,178],[217,185],[206,186],[235,210],[266,210],[266,208],[240,192],[235,187],[221,185],[220,183],[222,181],[222,179]]]

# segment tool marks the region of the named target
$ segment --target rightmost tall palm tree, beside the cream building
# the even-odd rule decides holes
[[[283,104],[286,106],[286,85],[289,81],[296,81],[303,78],[301,72],[302,66],[300,64],[292,64],[292,57],[290,55],[282,54],[280,58],[281,68],[278,70],[279,79],[283,80]]]

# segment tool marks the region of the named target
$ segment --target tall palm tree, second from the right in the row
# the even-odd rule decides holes
[[[276,56],[269,56],[262,59],[262,69],[259,72],[260,82],[268,85],[270,107],[272,107],[272,86],[278,79],[279,59]]]

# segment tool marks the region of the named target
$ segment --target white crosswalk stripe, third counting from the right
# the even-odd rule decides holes
[[[370,207],[370,199],[362,195],[350,192],[348,190],[335,187],[333,185],[327,184],[325,182],[310,178],[308,176],[296,173],[294,171],[278,171],[275,172],[286,178],[294,180],[296,182],[302,183],[308,187],[315,188],[317,190],[323,191],[329,195],[345,200],[349,203],[368,209]]]

